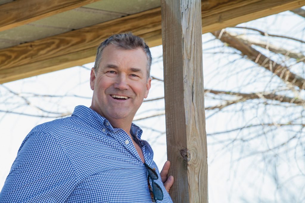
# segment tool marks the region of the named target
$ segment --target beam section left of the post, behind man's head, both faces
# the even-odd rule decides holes
[[[160,8],[2,49],[0,83],[94,61],[96,48],[103,40],[113,33],[127,31],[144,37],[150,46],[158,45],[161,38]],[[156,39],[156,36],[160,38]]]

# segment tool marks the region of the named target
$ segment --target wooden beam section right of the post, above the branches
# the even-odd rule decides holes
[[[202,1],[202,30],[203,33],[213,32],[292,8],[300,8],[303,5],[305,5],[305,0]]]

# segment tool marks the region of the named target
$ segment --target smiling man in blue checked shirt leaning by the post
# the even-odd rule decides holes
[[[172,202],[150,145],[132,120],[147,97],[151,54],[131,33],[98,48],[91,107],[33,128],[20,146],[0,202]],[[163,185],[164,184],[164,185]]]

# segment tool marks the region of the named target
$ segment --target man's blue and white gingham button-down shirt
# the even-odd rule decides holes
[[[156,168],[142,130],[131,125],[145,163]],[[0,202],[152,202],[148,172],[131,138],[94,110],[77,106],[71,117],[33,128],[22,142]]]

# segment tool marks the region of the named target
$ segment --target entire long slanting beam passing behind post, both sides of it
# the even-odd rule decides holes
[[[207,33],[299,8],[305,0],[204,0],[201,5],[202,32]],[[151,47],[162,44],[161,8],[2,49],[0,84],[93,62],[99,43],[127,31],[142,36]]]

